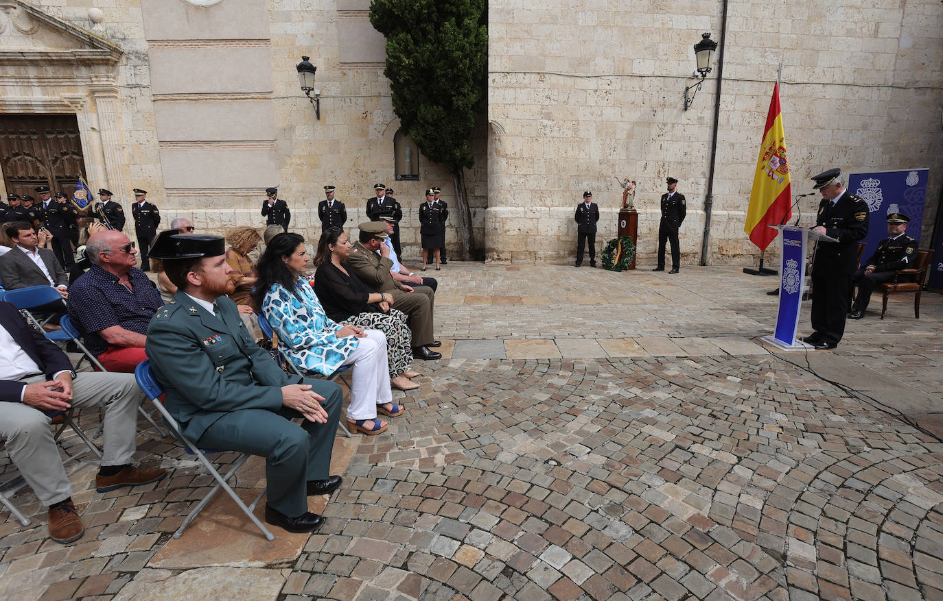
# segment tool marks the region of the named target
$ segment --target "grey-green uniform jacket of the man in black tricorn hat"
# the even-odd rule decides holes
[[[216,302],[222,320],[178,291],[147,328],[145,349],[164,388],[164,406],[191,440],[233,411],[279,411],[281,387],[302,382],[256,345],[235,302]]]

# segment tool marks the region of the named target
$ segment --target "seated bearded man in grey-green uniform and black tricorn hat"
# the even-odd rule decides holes
[[[145,349],[165,406],[200,447],[266,458],[265,521],[310,532],[323,517],[307,511],[307,495],[328,495],[343,396],[334,382],[288,376],[242,323],[232,269],[219,236],[158,238],[152,256],[177,286],[174,300],[151,319]],[[298,425],[293,418],[303,418]]]

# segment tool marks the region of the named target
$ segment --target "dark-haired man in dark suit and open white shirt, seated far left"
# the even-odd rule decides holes
[[[58,264],[56,255],[41,249],[36,230],[25,221],[7,224],[7,236],[16,246],[0,257],[0,280],[8,290],[32,285],[54,286],[62,298],[69,296],[69,274]]]

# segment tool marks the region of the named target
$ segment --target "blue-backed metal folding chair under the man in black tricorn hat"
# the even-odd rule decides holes
[[[274,535],[269,531],[269,528],[265,528],[265,525],[258,521],[256,514],[253,513],[253,510],[256,509],[258,501],[261,500],[262,495],[265,495],[265,490],[256,496],[256,500],[252,502],[252,505],[246,507],[245,503],[242,502],[239,495],[237,495],[233,489],[227,484],[227,481],[233,477],[236,471],[241,467],[242,463],[245,463],[249,459],[249,453],[241,453],[239,459],[236,460],[236,463],[233,463],[233,466],[226,472],[225,476],[221,476],[220,473],[213,467],[212,463],[209,463],[207,460],[208,453],[223,453],[226,451],[212,448],[200,448],[197,447],[189,438],[183,435],[183,432],[180,431],[180,426],[174,420],[174,417],[167,411],[163,403],[160,402],[160,396],[164,394],[163,389],[160,387],[160,384],[154,379],[154,374],[151,372],[151,362],[150,360],[144,361],[138,365],[138,368],[134,370],[135,380],[138,381],[138,385],[141,386],[141,390],[144,391],[144,394],[147,395],[147,398],[151,399],[151,402],[154,403],[154,406],[157,407],[157,411],[160,412],[160,415],[164,418],[164,421],[170,427],[171,433],[184,447],[186,447],[187,453],[190,455],[196,456],[200,463],[203,463],[204,467],[207,468],[209,474],[216,480],[216,486],[213,487],[206,496],[203,497],[196,507],[190,512],[189,515],[184,519],[183,524],[180,525],[180,528],[177,528],[174,532],[174,538],[180,538],[180,535],[183,534],[184,528],[187,528],[190,525],[190,522],[193,521],[193,518],[202,512],[209,501],[220,491],[222,488],[227,495],[229,495],[237,505],[239,505],[240,510],[246,514],[246,516],[252,520],[252,523],[262,531],[262,534],[265,535],[265,538],[269,541],[274,540]]]

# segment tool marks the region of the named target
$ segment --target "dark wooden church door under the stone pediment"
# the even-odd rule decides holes
[[[72,197],[85,177],[75,116],[0,115],[0,170],[8,192],[35,198],[33,188],[46,185]]]

